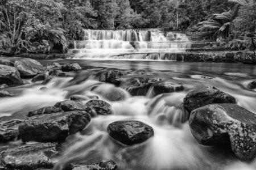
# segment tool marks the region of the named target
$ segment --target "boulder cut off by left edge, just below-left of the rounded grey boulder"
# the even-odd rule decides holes
[[[20,74],[15,67],[0,65],[0,82],[8,86],[19,86],[24,84]]]

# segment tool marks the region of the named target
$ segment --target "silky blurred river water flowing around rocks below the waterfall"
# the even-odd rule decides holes
[[[256,169],[256,162],[242,163],[228,149],[199,145],[192,137],[182,108],[183,98],[189,91],[214,86],[236,97],[238,105],[256,113],[256,93],[247,89],[250,80],[256,79],[254,65],[106,59],[39,62],[43,65],[77,62],[83,71],[79,80],[55,78],[45,85],[47,89],[43,91],[40,88],[44,85],[31,83],[31,79],[26,79],[28,84],[24,86],[9,88],[17,96],[0,98],[1,116],[26,115],[28,111],[69,99],[73,94],[97,95],[108,101],[113,110],[111,116],[92,118],[81,133],[70,136],[61,144],[63,152],[55,169],[70,163],[101,160],[114,160],[118,169]],[[116,87],[98,80],[101,73],[111,69],[126,73],[122,76],[123,82],[134,76],[150,76],[182,83],[185,90],[155,97],[152,91],[147,96],[130,96],[125,91],[124,100],[109,101],[104,96]],[[123,84],[119,90],[122,87]],[[119,120],[142,121],[152,126],[155,135],[140,145],[122,146],[106,131],[111,122]],[[13,142],[8,145],[13,145]]]

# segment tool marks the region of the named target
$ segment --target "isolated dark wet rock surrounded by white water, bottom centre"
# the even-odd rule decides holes
[[[125,144],[142,143],[154,135],[151,126],[140,121],[116,121],[108,126],[110,137]]]

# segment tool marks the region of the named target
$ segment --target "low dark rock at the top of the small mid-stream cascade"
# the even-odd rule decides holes
[[[184,87],[182,84],[171,83],[171,82],[157,82],[153,84],[155,95],[183,91]]]

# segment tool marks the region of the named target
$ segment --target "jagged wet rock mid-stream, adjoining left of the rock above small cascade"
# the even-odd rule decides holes
[[[159,81],[159,78],[133,78],[126,85],[125,90],[130,92],[133,96],[144,96],[147,94],[152,84]]]

